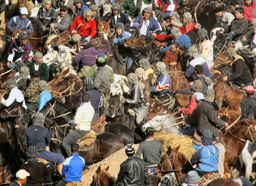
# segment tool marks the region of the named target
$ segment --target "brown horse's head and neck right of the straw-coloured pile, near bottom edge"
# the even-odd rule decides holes
[[[156,167],[156,173],[159,178],[162,178],[167,173],[174,172],[178,185],[189,171],[193,171],[193,167],[186,156],[178,152],[179,148],[180,146],[172,149],[169,146]]]

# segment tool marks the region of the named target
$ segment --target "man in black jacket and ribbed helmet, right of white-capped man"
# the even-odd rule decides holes
[[[57,12],[51,6],[51,0],[43,0],[42,7],[37,13],[37,25],[43,30],[44,35],[48,34],[51,23],[56,23]]]

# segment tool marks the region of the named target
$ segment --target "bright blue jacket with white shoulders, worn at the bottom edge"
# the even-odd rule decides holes
[[[72,154],[63,163],[62,176],[67,181],[81,181],[85,163],[79,154]]]

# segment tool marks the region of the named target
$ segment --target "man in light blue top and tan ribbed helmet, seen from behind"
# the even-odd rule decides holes
[[[38,90],[40,91],[40,95],[37,102],[37,112],[39,112],[43,108],[43,106],[52,99],[51,94],[48,92],[48,85],[46,81],[41,80],[38,82]]]

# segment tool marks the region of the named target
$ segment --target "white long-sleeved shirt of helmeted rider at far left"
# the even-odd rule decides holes
[[[18,90],[17,87],[13,88],[13,90],[10,92],[7,100],[5,100],[2,97],[1,103],[4,106],[9,107],[14,102],[15,99],[17,102],[22,102],[22,106],[27,110],[27,105],[25,104],[24,96],[23,96],[22,92],[20,90]]]

